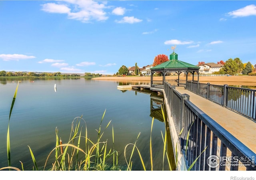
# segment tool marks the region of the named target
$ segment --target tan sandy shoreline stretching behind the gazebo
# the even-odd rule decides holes
[[[154,80],[162,80],[162,76],[154,76]],[[166,76],[166,80],[176,80],[178,76]],[[181,80],[185,80],[186,76],[180,76]],[[150,76],[111,76],[111,77],[97,77],[92,80],[114,80],[114,81],[148,81],[150,82]],[[192,80],[192,76],[188,77],[188,80]],[[197,77],[194,77],[197,80]],[[244,86],[256,86],[255,76],[199,76],[199,82],[210,83],[216,85],[244,85]]]

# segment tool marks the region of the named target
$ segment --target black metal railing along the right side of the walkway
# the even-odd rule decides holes
[[[256,121],[256,90],[187,81],[186,89]]]

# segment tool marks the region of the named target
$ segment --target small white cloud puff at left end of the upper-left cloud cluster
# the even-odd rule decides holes
[[[46,3],[42,5],[42,10],[50,13],[70,13],[70,8],[65,4]]]

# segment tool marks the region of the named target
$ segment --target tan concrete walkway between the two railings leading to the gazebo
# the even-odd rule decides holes
[[[184,87],[175,87],[175,89],[180,94],[188,94],[190,96],[189,100],[193,104],[256,153],[256,122],[198,96]]]

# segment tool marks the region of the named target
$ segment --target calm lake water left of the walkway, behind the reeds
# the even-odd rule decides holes
[[[150,170],[152,114],[159,115],[159,111],[152,113],[152,109],[158,107],[159,110],[159,103],[154,101],[154,97],[161,97],[151,92],[117,89],[118,85],[131,82],[85,78],[0,78],[0,167],[8,166],[6,134],[10,106],[18,80],[21,82],[10,118],[12,166],[21,168],[21,161],[25,170],[32,170],[33,162],[28,148],[30,146],[38,168],[42,169],[49,152],[55,147],[56,127],[59,137],[66,143],[70,136],[71,123],[78,116],[86,121],[88,136],[96,138],[96,129],[99,128],[106,110],[102,127],[106,127],[110,120],[111,124],[104,132],[103,139],[112,140],[113,126],[120,169],[126,169],[125,146],[134,143],[140,133],[137,145],[147,170]],[[57,86],[56,92],[54,84]],[[165,125],[160,116],[154,118],[153,164],[154,170],[162,170],[161,131],[164,133]],[[165,170],[168,169],[166,165],[164,167]],[[133,170],[142,170],[137,153],[134,155]]]

